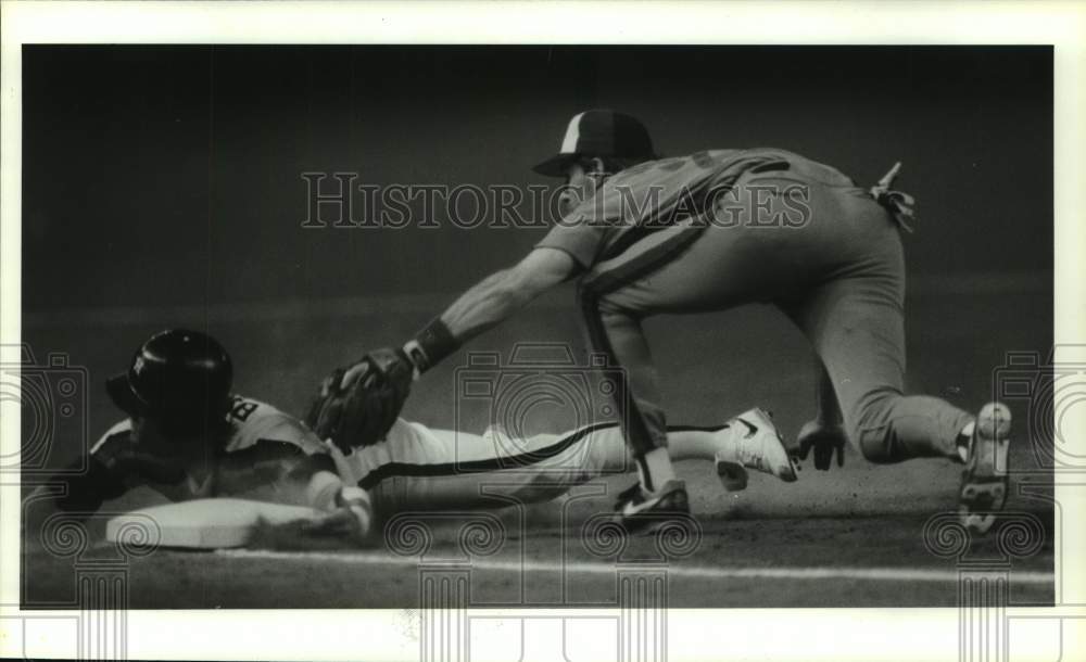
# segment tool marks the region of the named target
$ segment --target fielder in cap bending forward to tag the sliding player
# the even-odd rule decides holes
[[[558,154],[535,171],[565,177],[564,216],[521,262],[464,293],[403,354],[420,374],[462,343],[571,278],[592,343],[629,375],[616,393],[640,473],[618,513],[630,530],[686,513],[667,451],[656,368],[642,320],[656,314],[779,306],[824,366],[819,413],[801,453],[829,468],[847,437],[873,462],[964,462],[960,509],[987,531],[1006,499],[1009,410],[978,417],[906,396],[905,262],[912,200],[776,149],[711,150],[659,160],[645,127],[611,111],[574,116]],[[705,347],[704,351],[712,351]],[[653,517],[642,517],[653,514]]]

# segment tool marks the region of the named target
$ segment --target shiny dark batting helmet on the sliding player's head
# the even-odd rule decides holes
[[[199,331],[171,329],[140,345],[128,370],[110,378],[105,390],[130,416],[188,430],[222,419],[232,384],[233,365],[218,341]]]

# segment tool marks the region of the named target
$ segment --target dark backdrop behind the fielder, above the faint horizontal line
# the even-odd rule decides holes
[[[1049,47],[24,48],[23,305],[454,293],[545,229],[302,229],[303,171],[554,183],[569,117],[665,154],[771,145],[873,183],[904,162],[912,278],[1052,266]],[[949,278],[948,278],[949,277]]]

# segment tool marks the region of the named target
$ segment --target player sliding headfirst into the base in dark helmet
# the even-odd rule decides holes
[[[87,472],[56,479],[66,483],[61,494],[30,497],[30,521],[40,525],[56,510],[91,513],[146,485],[174,501],[229,496],[308,506],[328,513],[310,532],[361,538],[375,508],[388,515],[493,506],[482,485],[541,501],[626,470],[622,434],[613,423],[518,440],[396,419],[379,443],[344,456],[296,418],[232,394],[232,373],[226,349],[203,333],[153,335],[127,372],[106,382],[127,418],[91,447]],[[716,429],[675,429],[670,441],[675,459],[714,461],[729,489],[746,486],[744,467],[795,480],[780,435],[758,409]]]

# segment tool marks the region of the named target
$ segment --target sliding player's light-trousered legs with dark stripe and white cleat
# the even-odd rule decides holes
[[[674,460],[707,460],[730,489],[746,485],[744,468],[795,480],[768,416],[740,415],[712,428],[672,428]],[[498,508],[558,497],[591,480],[633,471],[616,423],[527,438],[500,429],[483,435],[397,421],[388,438],[345,459],[349,481],[370,492],[378,513]]]

